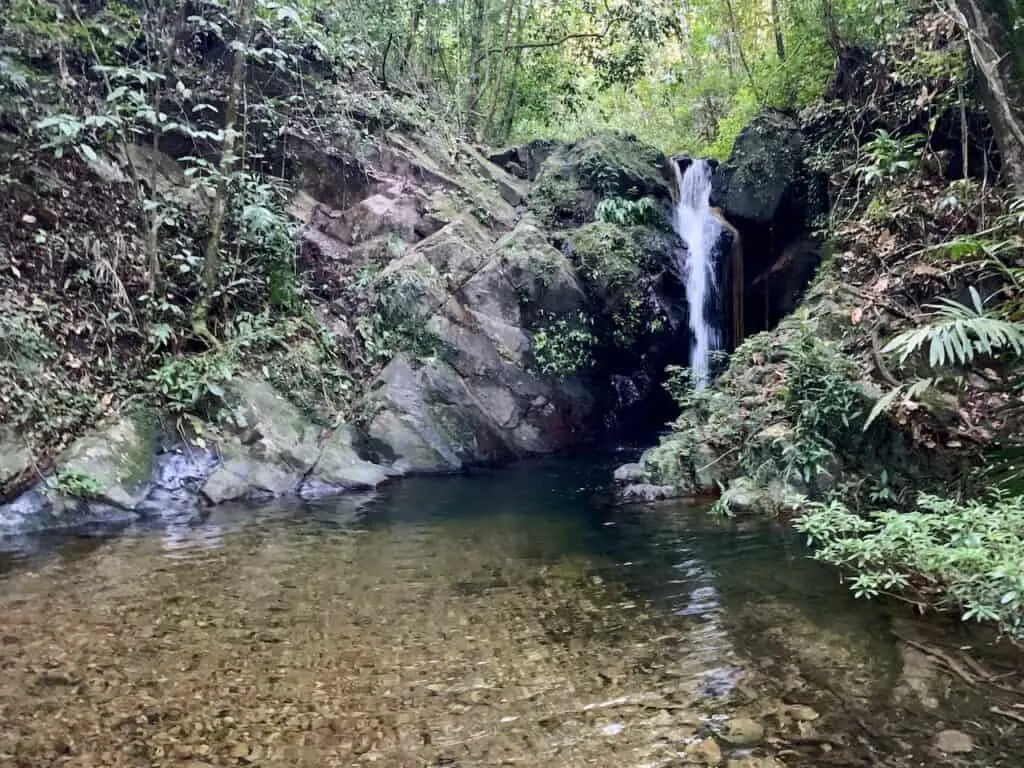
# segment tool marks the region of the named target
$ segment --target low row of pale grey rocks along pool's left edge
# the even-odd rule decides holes
[[[75,441],[52,475],[0,506],[0,532],[188,518],[211,504],[372,489],[401,474],[361,458],[355,429],[314,425],[261,378],[238,377],[224,398],[225,424],[208,425],[202,441],[162,432],[150,411]]]

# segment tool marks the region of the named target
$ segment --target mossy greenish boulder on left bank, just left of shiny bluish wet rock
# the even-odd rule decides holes
[[[74,476],[97,501],[134,509],[150,490],[158,421],[148,411],[122,414],[57,458],[57,474]]]

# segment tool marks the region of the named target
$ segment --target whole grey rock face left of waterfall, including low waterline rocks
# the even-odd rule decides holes
[[[279,391],[266,371],[240,375],[202,439],[167,429],[160,445],[159,415],[124,416],[75,442],[0,518],[187,516],[549,454],[608,416],[664,422],[668,412],[643,411],[665,366],[685,361],[688,330],[660,153],[609,134],[488,159],[392,134],[364,165],[307,137],[290,144],[298,263],[339,365],[366,384],[352,423],[326,428],[336,413]],[[605,202],[617,213],[597,221]],[[0,483],[31,458],[0,434]]]

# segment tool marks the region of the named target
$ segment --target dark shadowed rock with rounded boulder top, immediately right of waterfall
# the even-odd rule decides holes
[[[811,171],[806,160],[796,121],[763,112],[740,132],[712,180],[712,205],[748,245],[745,335],[773,328],[792,312],[820,263],[809,232],[813,220],[827,212],[827,178]]]

